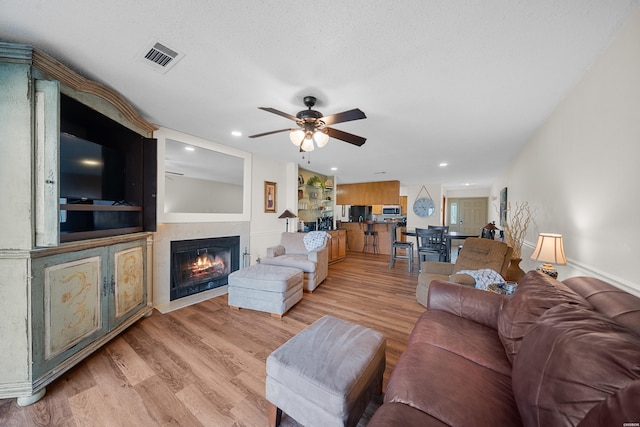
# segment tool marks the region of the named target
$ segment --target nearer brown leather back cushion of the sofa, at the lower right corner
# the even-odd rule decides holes
[[[522,340],[512,373],[525,426],[578,425],[600,402],[619,391],[628,394],[624,389],[639,379],[640,336],[601,313],[572,304],[540,316]],[[614,398],[610,403],[637,413],[638,402],[631,399]]]

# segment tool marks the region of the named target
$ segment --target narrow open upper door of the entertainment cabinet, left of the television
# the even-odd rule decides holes
[[[36,80],[35,230],[36,246],[41,247],[60,244],[59,105],[59,83]]]

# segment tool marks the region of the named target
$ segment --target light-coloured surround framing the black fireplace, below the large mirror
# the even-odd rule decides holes
[[[153,239],[153,306],[161,313],[166,313],[225,294],[227,286],[222,286],[170,301],[171,242],[228,236],[240,236],[240,252],[244,252],[244,249],[249,247],[249,222],[158,224],[158,231]],[[242,262],[241,255],[241,267]]]

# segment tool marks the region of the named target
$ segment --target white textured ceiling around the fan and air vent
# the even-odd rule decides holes
[[[486,187],[639,4],[0,0],[0,39],[118,90],[153,123],[338,182]],[[184,54],[166,74],[140,60],[152,39]],[[366,144],[331,139],[309,164],[286,133],[246,137],[293,124],[257,107],[295,115],[305,95],[325,115],[363,110],[334,127]]]

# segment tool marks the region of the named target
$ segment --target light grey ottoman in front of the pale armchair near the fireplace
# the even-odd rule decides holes
[[[229,275],[229,306],[282,317],[302,299],[303,276],[299,268],[263,264],[234,271]]]

